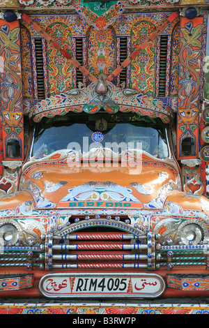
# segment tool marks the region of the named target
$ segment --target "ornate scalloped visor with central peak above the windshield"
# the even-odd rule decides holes
[[[111,82],[98,80],[82,89],[71,89],[62,94],[46,98],[33,106],[29,116],[33,121],[42,117],[65,115],[69,111],[94,114],[104,110],[109,114],[135,112],[139,116],[153,119],[159,117],[167,124],[173,119],[173,110],[162,100],[132,89],[120,89]]]

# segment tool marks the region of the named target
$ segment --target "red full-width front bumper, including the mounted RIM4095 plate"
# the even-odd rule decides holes
[[[1,299],[17,298],[19,301],[24,297],[68,299],[68,301],[72,299],[77,301],[120,299],[126,302],[127,299],[129,301],[162,299],[163,301],[170,298],[175,301],[175,299],[187,297],[189,299],[209,298],[209,274],[200,267],[195,269],[187,267],[187,274],[183,274],[183,268],[173,269],[171,273],[167,270],[141,273],[132,270],[123,274],[116,271],[112,273],[53,271],[49,273],[40,270],[24,274],[22,269],[19,271],[18,274],[14,269],[10,269],[0,276]],[[122,281],[119,287],[123,289],[125,286],[122,292],[116,290],[116,285],[112,284],[118,278]],[[97,285],[95,285],[95,280]]]

